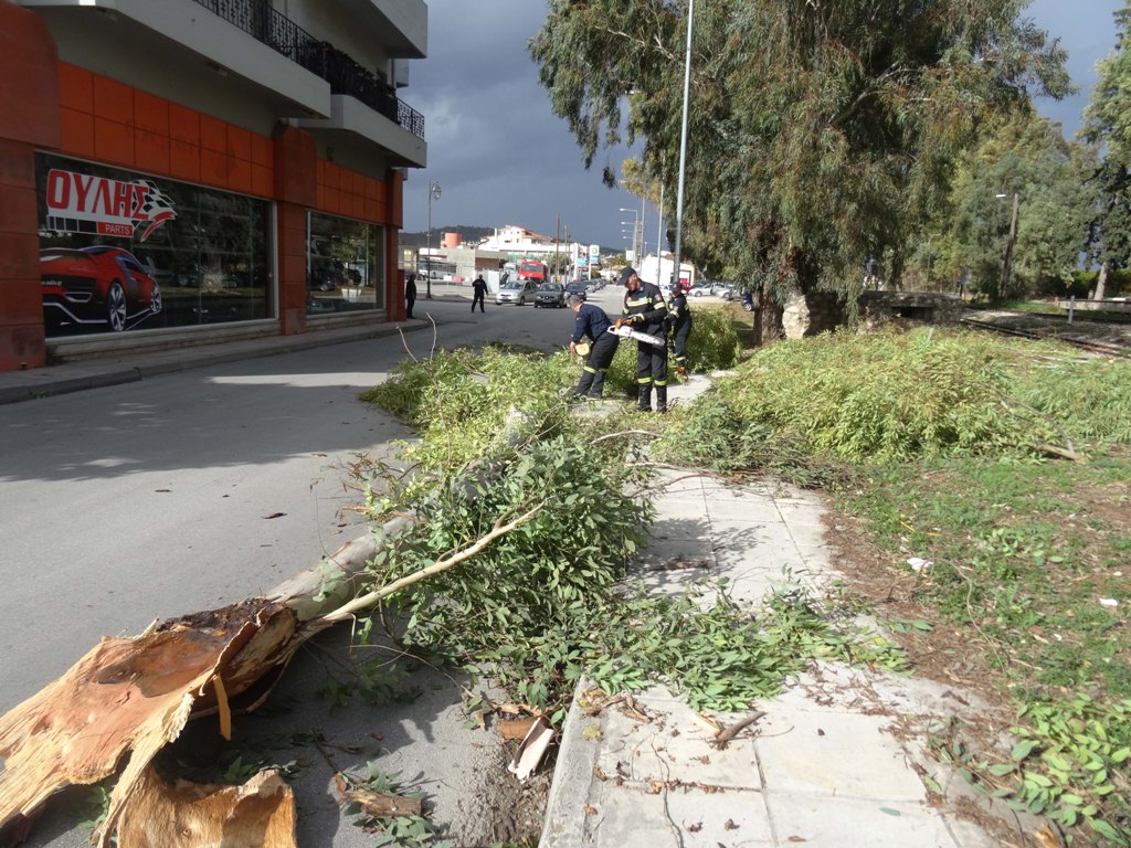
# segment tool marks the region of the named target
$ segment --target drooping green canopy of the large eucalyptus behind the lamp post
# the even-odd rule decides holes
[[[783,300],[898,267],[987,114],[1068,89],[1024,0],[699,0],[685,171],[689,258]],[[529,49],[587,165],[642,141],[677,175],[688,6],[550,0]],[[615,174],[605,167],[605,180]],[[667,215],[674,191],[665,197]]]

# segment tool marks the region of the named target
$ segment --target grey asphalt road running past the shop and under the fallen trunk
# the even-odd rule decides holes
[[[619,292],[606,288],[598,302],[613,309]],[[490,300],[483,314],[472,314],[469,301],[418,300],[416,315],[425,313],[437,320],[434,335],[202,366],[0,408],[0,711],[64,673],[102,635],[257,596],[361,535],[354,513],[343,511],[360,500],[343,469],[408,434],[357,395],[408,352],[425,357],[433,346],[490,340],[554,348],[573,326],[568,310]],[[423,696],[400,711],[334,712],[325,692],[313,692],[328,674],[319,658],[300,657],[299,666],[288,694],[304,702],[284,722],[378,739],[370,755],[399,760],[403,768],[391,770],[434,797],[438,821],[486,821],[490,798],[476,799],[476,775],[500,752],[461,728],[458,681],[417,683]],[[300,778],[317,795],[300,798],[300,843],[370,845],[372,837],[338,827],[326,788],[333,772],[323,771]],[[86,843],[67,806],[57,805],[29,845]]]

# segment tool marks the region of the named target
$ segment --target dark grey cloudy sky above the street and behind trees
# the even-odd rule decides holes
[[[1096,81],[1095,64],[1115,46],[1112,17],[1122,0],[1033,0],[1027,15],[1068,50],[1068,68],[1080,93],[1042,101],[1038,109],[1071,137]],[[630,246],[639,200],[601,182],[608,164],[620,172],[627,150],[599,150],[585,170],[581,153],[553,114],[526,44],[545,18],[542,0],[429,0],[429,55],[411,63],[402,98],[424,115],[426,170],[405,183],[405,230],[428,228],[428,187],[433,230],[458,225],[515,224],[553,236],[607,248]],[[639,215],[639,213],[637,213]],[[655,250],[656,211],[644,211],[645,241]],[[622,222],[629,222],[624,226]]]

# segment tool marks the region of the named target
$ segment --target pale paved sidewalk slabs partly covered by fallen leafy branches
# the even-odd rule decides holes
[[[656,505],[653,542],[629,576],[655,591],[728,577],[736,599],[757,604],[785,571],[818,591],[835,577],[822,508],[808,493],[668,474]],[[953,803],[974,793],[924,750],[929,722],[979,707],[952,687],[813,664],[753,704],[765,717],[724,750],[663,687],[637,695],[634,709],[602,708],[587,690],[566,722],[541,848],[998,845],[958,817]]]

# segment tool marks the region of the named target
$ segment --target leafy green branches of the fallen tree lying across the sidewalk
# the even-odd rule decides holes
[[[521,407],[532,393],[527,366],[539,378],[533,412],[519,441],[500,440],[491,433],[503,426],[499,410]],[[610,692],[663,681],[699,708],[740,709],[776,692],[811,657],[901,667],[899,651],[832,626],[796,588],[757,612],[732,603],[723,585],[677,599],[618,590],[651,518],[642,495],[649,464],[639,438],[610,433],[615,416],[569,415],[558,389],[576,372],[553,384],[551,367],[494,351],[456,353],[404,366],[395,384],[366,396],[424,425],[421,442],[405,451],[416,464],[412,477],[382,481],[385,495],[371,501],[374,520],[416,519],[371,563],[375,583],[539,511],[472,562],[394,596],[364,623],[364,638],[385,626],[413,654],[490,674],[555,721],[582,674]],[[472,379],[481,374],[503,379]],[[456,419],[467,434],[458,449],[435,425]]]

